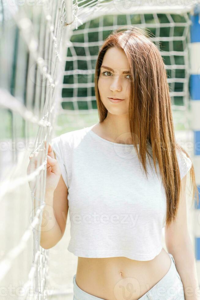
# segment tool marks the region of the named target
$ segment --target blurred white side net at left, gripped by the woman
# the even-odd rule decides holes
[[[1,298],[44,299],[46,150],[60,89],[63,1],[1,5]],[[41,159],[27,172],[30,152]],[[30,188],[29,184],[30,183]],[[30,193],[30,190],[32,193]]]

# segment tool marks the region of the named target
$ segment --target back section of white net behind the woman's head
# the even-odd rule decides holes
[[[137,1],[73,3],[76,17],[69,32],[70,40],[66,42],[62,106],[58,120],[61,127],[64,122],[66,130],[66,126],[80,128],[97,121],[94,71],[99,47],[119,26],[132,24],[145,28],[150,39],[160,49],[168,74],[175,128],[189,130],[190,14],[194,11],[195,3],[185,1],[182,5],[177,3],[176,6],[166,6],[162,1],[163,5],[159,7],[149,5],[149,11],[144,6],[146,2],[142,1],[139,1],[139,5]],[[126,13],[122,14],[122,9],[118,7],[120,5],[127,9]],[[129,13],[131,10],[132,13]],[[77,26],[79,23],[83,24]]]

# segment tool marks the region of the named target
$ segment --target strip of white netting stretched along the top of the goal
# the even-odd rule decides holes
[[[199,0],[73,0],[72,29],[91,20],[91,17],[120,14],[175,13],[191,11]]]

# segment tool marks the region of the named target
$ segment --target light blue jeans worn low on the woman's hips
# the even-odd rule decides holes
[[[171,253],[171,266],[165,274],[146,294],[138,300],[185,300],[183,283],[176,270],[175,260]],[[76,284],[76,274],[73,277],[73,300],[104,300],[81,290]]]

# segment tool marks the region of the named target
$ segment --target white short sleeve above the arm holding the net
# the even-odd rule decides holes
[[[59,167],[61,169],[61,175],[62,178],[67,186],[67,188],[69,189],[69,185],[68,185],[68,175],[67,175],[67,170],[66,170],[66,166],[65,166],[65,162],[64,162],[64,158],[63,158],[63,145],[62,145],[62,141],[61,141],[61,137],[54,137],[51,140],[51,146],[56,154],[56,159],[58,161]]]

